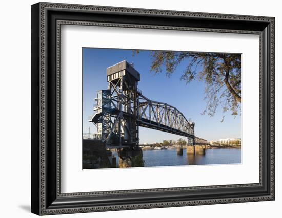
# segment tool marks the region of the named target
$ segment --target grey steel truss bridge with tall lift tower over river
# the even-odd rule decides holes
[[[107,68],[107,90],[97,92],[96,112],[90,122],[97,127],[96,139],[106,148],[138,148],[139,126],[188,138],[195,143],[194,122],[174,106],[152,101],[137,89],[140,74],[127,61]]]

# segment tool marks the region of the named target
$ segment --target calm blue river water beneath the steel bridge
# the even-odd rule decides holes
[[[177,155],[176,149],[143,150],[144,166],[183,166],[203,164],[241,163],[241,148],[206,149],[205,155],[188,155],[183,148],[183,155]],[[118,166],[118,158],[117,158]]]

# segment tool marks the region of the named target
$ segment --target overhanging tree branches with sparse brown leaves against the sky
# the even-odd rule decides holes
[[[139,51],[134,51],[134,54]],[[151,71],[155,74],[166,70],[170,77],[183,63],[186,69],[180,77],[186,84],[192,80],[205,82],[205,100],[203,114],[214,116],[221,106],[224,114],[240,114],[241,110],[241,55],[230,53],[199,53],[175,51],[151,51]],[[223,121],[222,120],[222,121]],[[222,122],[221,121],[221,122]]]

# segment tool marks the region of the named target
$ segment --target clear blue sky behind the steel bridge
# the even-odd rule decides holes
[[[241,116],[225,114],[224,122],[220,122],[223,114],[221,108],[214,117],[201,115],[205,110],[205,84],[192,81],[187,84],[180,80],[186,64],[177,67],[171,77],[165,70],[157,75],[150,72],[151,57],[149,51],[142,51],[133,56],[132,50],[83,48],[83,132],[96,133],[93,123],[88,122],[94,114],[93,107],[98,90],[108,87],[106,69],[113,64],[127,60],[134,63],[134,68],[140,73],[138,88],[143,95],[155,101],[165,102],[175,106],[188,119],[195,122],[195,135],[207,140],[221,138],[241,138]],[[148,128],[139,128],[140,144],[177,140],[178,135],[168,134]]]

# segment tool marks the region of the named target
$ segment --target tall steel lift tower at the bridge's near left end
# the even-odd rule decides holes
[[[107,68],[107,90],[97,92],[96,112],[91,122],[97,138],[107,148],[138,148],[137,83],[140,74],[127,61]]]

